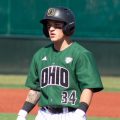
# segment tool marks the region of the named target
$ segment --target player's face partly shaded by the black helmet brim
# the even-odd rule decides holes
[[[47,22],[47,29],[48,29],[49,37],[52,42],[57,42],[64,38],[65,35],[62,30],[63,27],[64,27],[63,22],[52,21],[52,20]]]

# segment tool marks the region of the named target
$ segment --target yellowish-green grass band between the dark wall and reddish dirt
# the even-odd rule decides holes
[[[25,88],[26,75],[0,75],[0,88]],[[104,91],[120,92],[120,77],[102,77]]]

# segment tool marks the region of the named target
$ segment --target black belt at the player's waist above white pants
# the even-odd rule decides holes
[[[72,107],[60,107],[60,108],[56,108],[56,107],[42,107],[41,110],[48,110],[49,112],[51,113],[64,113],[64,112],[72,112],[72,111],[75,111],[76,108],[72,108]]]

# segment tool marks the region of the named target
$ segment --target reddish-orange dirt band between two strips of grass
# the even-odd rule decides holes
[[[0,113],[17,113],[27,95],[23,89],[0,89]],[[37,113],[38,107],[31,112]],[[94,95],[88,116],[120,118],[120,92]]]

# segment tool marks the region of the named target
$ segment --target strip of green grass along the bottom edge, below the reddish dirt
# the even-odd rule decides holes
[[[16,114],[0,113],[0,120],[16,120]],[[34,120],[35,115],[28,115],[27,120]],[[101,117],[88,117],[87,120],[119,120],[120,118],[101,118]]]

